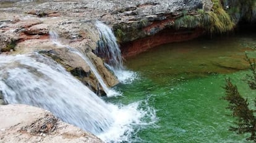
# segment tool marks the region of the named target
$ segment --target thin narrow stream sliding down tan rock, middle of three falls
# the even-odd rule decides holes
[[[54,44],[61,46],[61,47],[66,47],[67,49],[69,49],[70,52],[73,52],[74,54],[79,55],[79,57],[81,57],[85,61],[85,63],[87,63],[87,65],[89,65],[90,69],[94,73],[95,77],[97,78],[98,82],[100,83],[101,87],[103,88],[103,90],[105,91],[107,96],[114,96],[114,95],[119,94],[116,91],[113,91],[108,88],[108,86],[104,83],[103,79],[101,78],[100,73],[98,73],[98,70],[96,70],[93,63],[90,61],[90,59],[88,59],[88,57],[85,54],[82,54],[80,51],[78,51],[77,49],[75,49],[73,47],[65,46],[65,45],[61,44],[59,42],[59,36],[56,32],[50,31],[49,35],[50,35],[50,39],[53,41]]]

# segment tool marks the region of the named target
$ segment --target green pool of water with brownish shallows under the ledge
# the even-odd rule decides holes
[[[256,35],[200,38],[156,47],[127,59],[126,66],[139,75],[131,84],[119,84],[121,97],[114,104],[147,100],[141,108],[153,107],[158,120],[153,125],[135,125],[131,142],[247,142],[246,135],[228,131],[233,125],[226,109],[225,78],[232,78],[239,91],[254,98],[242,78],[248,65],[244,51]],[[145,123],[150,116],[145,117]]]

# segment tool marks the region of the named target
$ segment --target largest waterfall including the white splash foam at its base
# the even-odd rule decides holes
[[[147,100],[106,104],[61,65],[39,54],[0,55],[0,91],[9,104],[45,108],[105,142],[133,142],[134,126],[151,125],[156,119],[155,110],[140,107]],[[152,122],[143,121],[149,117]]]

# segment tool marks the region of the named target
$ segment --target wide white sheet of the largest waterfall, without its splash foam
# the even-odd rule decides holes
[[[0,91],[9,104],[45,108],[94,134],[114,121],[108,104],[58,63],[41,55],[1,55]]]

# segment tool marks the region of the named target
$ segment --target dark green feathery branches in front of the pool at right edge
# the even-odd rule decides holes
[[[252,71],[252,75],[246,75],[245,81],[247,81],[250,89],[256,89],[255,60],[249,59],[247,54],[245,54],[245,60],[249,62],[250,70]],[[223,99],[229,102],[227,108],[233,112],[232,115],[236,118],[236,126],[231,126],[230,130],[236,131],[237,134],[250,133],[250,137],[247,140],[256,142],[256,117],[254,115],[256,110],[249,108],[247,99],[241,96],[237,86],[231,83],[230,78],[226,79],[226,86],[223,88],[226,91],[226,96]],[[254,99],[254,102],[256,107],[256,99]]]

